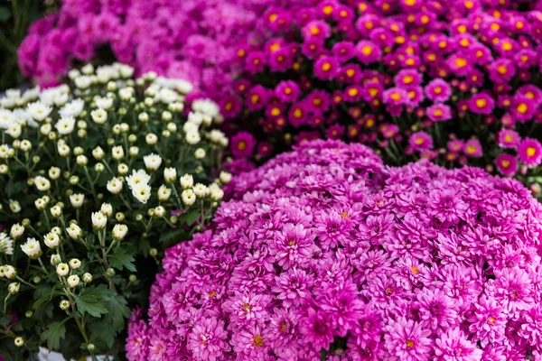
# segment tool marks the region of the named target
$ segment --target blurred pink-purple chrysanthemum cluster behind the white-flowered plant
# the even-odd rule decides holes
[[[58,14],[33,23],[19,65],[54,85],[78,60],[114,57],[138,73],[189,80],[210,96],[232,81],[235,47],[258,27],[264,9],[290,3],[300,0],[65,0]]]

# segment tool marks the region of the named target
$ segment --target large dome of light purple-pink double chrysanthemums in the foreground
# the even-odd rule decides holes
[[[519,180],[302,143],[173,246],[130,360],[540,359],[542,206]]]

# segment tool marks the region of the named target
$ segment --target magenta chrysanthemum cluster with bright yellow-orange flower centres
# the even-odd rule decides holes
[[[241,76],[220,99],[226,118],[248,109],[231,122],[241,131],[232,153],[266,158],[325,137],[370,144],[394,164],[424,157],[532,175],[542,163],[540,5],[319,0],[271,9],[266,37],[239,46]]]

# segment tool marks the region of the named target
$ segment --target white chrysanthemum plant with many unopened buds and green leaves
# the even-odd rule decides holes
[[[212,217],[229,181],[218,106],[114,64],[8,91],[0,110],[0,354],[117,355],[166,246]],[[142,272],[144,271],[144,272]]]

